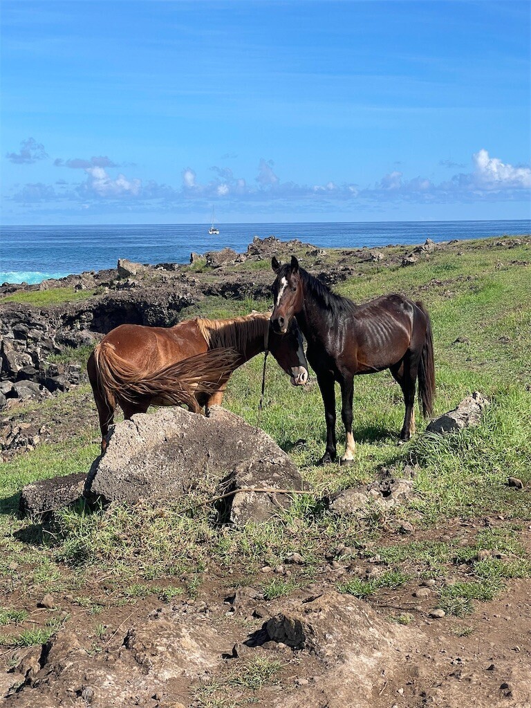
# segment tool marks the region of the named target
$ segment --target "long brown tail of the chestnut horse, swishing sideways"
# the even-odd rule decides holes
[[[111,409],[117,398],[135,403],[139,396],[156,396],[166,405],[184,404],[198,413],[195,394],[217,391],[222,379],[234,370],[237,358],[232,349],[212,349],[149,371],[120,357],[110,342],[101,342],[94,350],[98,387]]]

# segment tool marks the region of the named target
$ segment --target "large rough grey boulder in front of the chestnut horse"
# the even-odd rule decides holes
[[[118,423],[105,455],[91,467],[85,495],[126,503],[164,500],[200,486],[207,476],[228,481],[226,489],[302,489],[297,467],[267,433],[217,406],[211,411],[205,418],[181,408],[159,409]],[[278,511],[280,496],[280,503],[290,501],[286,495],[275,494],[266,502],[262,492],[245,493],[249,504],[239,499],[235,523],[255,518],[253,500],[259,520]]]

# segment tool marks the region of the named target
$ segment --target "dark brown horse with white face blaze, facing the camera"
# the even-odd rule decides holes
[[[271,265],[277,275],[273,283],[273,329],[285,332],[292,317],[297,317],[308,342],[307,358],[323,396],[326,450],[319,462],[333,462],[336,457],[336,381],[341,387],[341,417],[346,431],[341,463],[349,464],[354,459],[353,377],[358,374],[391,371],[406,404],[400,440],[409,440],[415,431],[417,379],[424,416],[433,414],[435,397],[433,338],[423,304],[401,295],[385,295],[357,305],[300,268],[295,256],[289,265],[280,265],[276,258]]]

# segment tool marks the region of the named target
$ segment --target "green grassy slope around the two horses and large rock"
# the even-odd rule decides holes
[[[336,290],[358,302],[386,292],[422,299],[433,321],[436,412],[454,408],[466,394],[479,390],[491,399],[481,425],[448,438],[418,433],[398,447],[404,417],[398,385],[388,372],[358,377],[356,462],[346,468],[314,467],[325,444],[318,387],[313,380],[305,389],[292,388],[270,359],[265,406],[258,416],[263,360],[257,357],[234,374],[224,405],[258,424],[290,451],[315,495],[297,497],[291,510],[273,523],[244,530],[217,525],[209,506],[185,513],[214,493],[208,479],[204,492],[176,500],[164,510],[139,505],[90,512],[80,507],[65,510],[53,527],[18,519],[18,492],[23,484],[88,469],[96,457],[99,436],[92,408],[86,411],[85,426],[69,442],[40,445],[0,465],[0,586],[16,590],[15,604],[22,607],[51,591],[70,593],[79,603],[96,607],[95,588],[102,577],[118,583],[114,596],[123,603],[133,602],[138,595],[164,595],[167,588],[194,595],[205,581],[206,569],[211,578],[222,578],[229,567],[234,571],[230,582],[259,583],[267,596],[275,597],[311,581],[325,554],[333,555],[339,544],[348,547],[360,563],[379,554],[389,566],[378,581],[343,576],[338,587],[361,597],[377,596],[382,588],[399,586],[412,577],[454,576],[459,564],[469,563],[460,584],[440,591],[440,606],[456,615],[469,612],[474,600],[489,599],[508,578],[529,575],[520,530],[531,519],[530,242],[513,248],[488,241],[465,242],[459,244],[459,251],[441,249],[406,268],[375,263]],[[207,299],[201,313],[229,316],[268,305]],[[63,398],[62,410],[65,400],[76,406],[81,393]],[[48,403],[42,409],[43,422],[53,417],[55,405]],[[344,431],[339,405],[340,401],[341,452]],[[418,414],[417,421],[418,430],[423,430]],[[382,466],[400,470],[406,464],[418,465],[418,496],[393,513],[373,510],[357,521],[338,519],[326,513],[319,501],[322,495],[371,481]],[[520,478],[525,489],[508,487],[509,475]],[[467,539],[459,532],[448,533],[457,522],[484,518],[495,520],[495,527]],[[397,521],[411,523],[413,536],[399,535]],[[479,560],[476,556],[482,549],[496,551],[500,557]],[[301,553],[307,564],[289,580],[271,581],[260,573],[261,566],[281,563],[292,551]],[[16,609],[4,608],[5,612]],[[14,620],[6,619],[5,624],[11,643],[23,641],[17,639],[21,633]]]

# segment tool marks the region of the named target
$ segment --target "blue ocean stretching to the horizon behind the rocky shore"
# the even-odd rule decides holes
[[[137,226],[12,226],[0,228],[0,283],[40,282],[84,270],[115,268],[118,258],[137,263],[188,263],[190,252],[245,251],[254,236],[300,239],[320,248],[377,248],[531,233],[531,220],[365,222],[316,224],[139,224]]]

